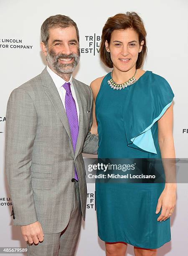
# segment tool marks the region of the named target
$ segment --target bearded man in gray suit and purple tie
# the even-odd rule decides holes
[[[93,96],[72,78],[79,62],[79,31],[64,15],[41,26],[48,66],[13,90],[7,105],[5,165],[28,255],[74,255],[85,219],[86,179],[82,152],[97,154],[90,133]]]

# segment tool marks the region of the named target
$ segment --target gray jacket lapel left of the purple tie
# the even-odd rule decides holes
[[[66,116],[64,105],[61,101],[58,90],[57,90],[50,74],[46,70],[46,68],[41,73],[41,79],[42,79],[43,86],[45,87],[45,93],[49,97],[49,99],[51,100],[51,102],[53,104],[53,107],[55,108],[59,118],[61,119],[61,122],[63,123],[64,128],[66,130],[66,133],[68,134],[69,139],[70,139],[71,144],[72,144],[69,122],[68,122],[68,119],[67,119],[67,116]],[[77,97],[77,95],[76,95],[76,97]]]

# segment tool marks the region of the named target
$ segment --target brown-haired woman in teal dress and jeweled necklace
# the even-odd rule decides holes
[[[98,158],[175,158],[173,91],[152,71],[143,71],[146,31],[137,13],[110,17],[102,31],[100,58],[112,68],[91,83],[92,133],[99,135]],[[98,127],[97,127],[98,126]],[[164,170],[163,170],[164,173]],[[96,182],[98,235],[106,255],[156,255],[170,241],[176,184]]]

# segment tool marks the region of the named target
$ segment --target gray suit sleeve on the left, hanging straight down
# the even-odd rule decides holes
[[[5,138],[5,172],[15,216],[13,225],[38,220],[30,172],[36,130],[35,106],[30,95],[18,87],[8,100]]]

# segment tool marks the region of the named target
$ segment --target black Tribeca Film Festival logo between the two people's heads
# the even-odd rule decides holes
[[[81,54],[93,54],[94,56],[99,53],[99,46],[101,41],[101,36],[94,33],[93,36],[85,36],[85,41],[87,47],[80,48]]]

